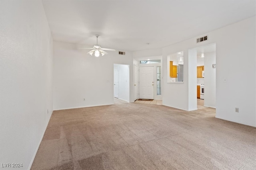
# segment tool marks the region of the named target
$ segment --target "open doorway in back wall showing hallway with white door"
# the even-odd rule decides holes
[[[114,98],[130,101],[130,69],[126,64],[114,64]]]

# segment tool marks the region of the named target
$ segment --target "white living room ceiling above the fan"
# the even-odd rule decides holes
[[[255,0],[43,0],[54,41],[162,48],[256,15]],[[150,43],[147,45],[146,43]]]

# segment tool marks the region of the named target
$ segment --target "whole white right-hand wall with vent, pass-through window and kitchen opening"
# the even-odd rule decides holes
[[[167,64],[163,63],[163,105],[188,110],[188,49],[216,43],[216,117],[256,126],[256,18],[228,25],[208,35],[196,44],[196,37],[163,48],[167,55],[184,51],[184,84],[167,84]],[[198,37],[200,37],[199,35]],[[250,61],[243,64],[241,61]],[[241,81],[240,78],[244,81]],[[224,82],[227,78],[227,82]],[[250,90],[246,90],[250,89]],[[175,97],[174,97],[175,96]],[[240,113],[235,113],[239,107]]]

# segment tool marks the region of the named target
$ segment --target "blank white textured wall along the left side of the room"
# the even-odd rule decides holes
[[[52,114],[52,36],[41,1],[0,12],[0,163],[29,169]]]

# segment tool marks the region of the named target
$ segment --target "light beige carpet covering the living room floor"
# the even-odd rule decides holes
[[[54,111],[32,170],[256,169],[256,128],[125,103]]]

